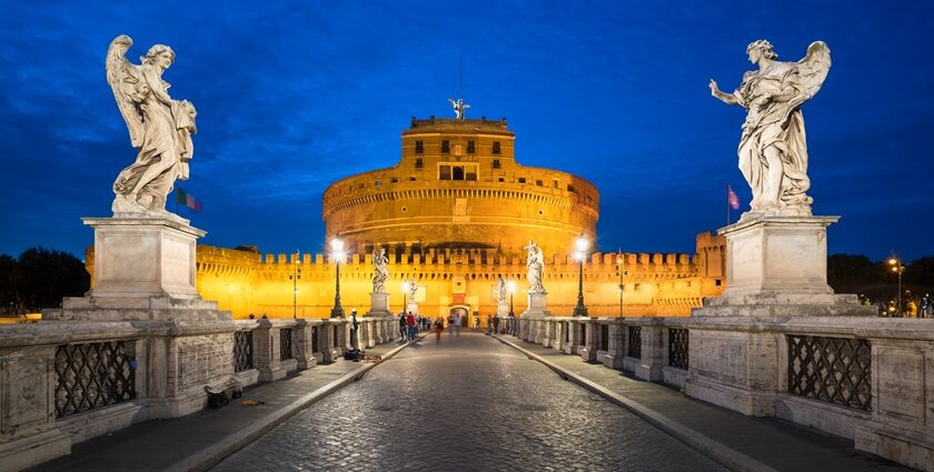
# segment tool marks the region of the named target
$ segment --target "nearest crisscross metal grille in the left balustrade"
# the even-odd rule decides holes
[[[136,360],[127,342],[56,348],[56,418],[136,399]]]

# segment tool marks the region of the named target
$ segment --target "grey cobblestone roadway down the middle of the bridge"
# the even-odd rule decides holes
[[[405,349],[215,471],[724,471],[481,334]]]

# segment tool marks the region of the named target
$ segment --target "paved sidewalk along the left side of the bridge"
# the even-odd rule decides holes
[[[390,341],[366,350],[391,358],[408,343]],[[381,361],[380,361],[381,362]],[[198,471],[207,470],[305,406],[358,380],[379,362],[337,361],[244,390],[219,410],[135,424],[72,445],[71,454],[29,471]],[[244,400],[265,404],[244,406]]]

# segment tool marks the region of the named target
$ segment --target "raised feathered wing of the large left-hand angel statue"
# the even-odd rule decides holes
[[[110,42],[107,48],[107,83],[113,90],[113,98],[117,99],[117,108],[127,122],[130,131],[130,142],[133,148],[142,145],[142,116],[137,108],[149,92],[146,80],[139,71],[139,66],[127,60],[127,50],[133,46],[133,40],[126,34],[120,34]]]

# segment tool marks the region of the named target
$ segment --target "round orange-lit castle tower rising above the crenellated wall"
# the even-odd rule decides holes
[[[546,253],[567,253],[580,234],[594,241],[596,187],[520,165],[514,144],[506,119],[413,118],[398,164],[325,190],[328,239],[340,235],[357,252],[376,245],[515,253],[534,240]]]

